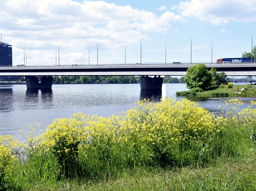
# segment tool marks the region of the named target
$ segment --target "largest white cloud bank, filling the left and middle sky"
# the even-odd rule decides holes
[[[131,45],[149,39],[149,32],[166,34],[171,22],[185,21],[172,12],[157,16],[104,1],[5,0],[0,7],[0,30],[10,39],[14,55],[24,46],[53,49],[61,44],[62,54],[65,48],[72,52],[67,57],[82,57],[76,52],[97,42],[104,49]]]

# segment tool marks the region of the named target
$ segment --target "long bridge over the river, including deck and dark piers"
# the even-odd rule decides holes
[[[187,69],[197,63],[142,63],[142,64],[98,64],[98,65],[41,65],[41,66],[1,66],[0,76],[26,76],[28,89],[51,88],[50,76],[89,76],[89,75],[137,75],[140,78],[141,90],[161,89],[163,78],[161,75],[185,76]],[[228,76],[255,76],[256,62],[244,63],[204,63],[208,70],[216,68],[218,72],[225,72]],[[44,76],[41,83],[35,76]],[[156,76],[149,78],[148,76]]]

